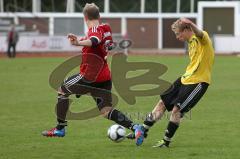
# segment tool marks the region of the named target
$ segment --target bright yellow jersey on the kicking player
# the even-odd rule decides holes
[[[211,71],[214,61],[214,49],[208,33],[203,31],[203,37],[192,35],[188,40],[190,63],[181,78],[183,84],[211,82]]]

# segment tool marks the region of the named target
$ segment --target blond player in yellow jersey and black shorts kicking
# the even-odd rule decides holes
[[[153,147],[169,147],[179,127],[180,119],[197,104],[211,82],[214,50],[208,33],[198,29],[186,18],[178,19],[171,28],[178,40],[188,42],[190,62],[182,77],[179,77],[160,95],[161,100],[144,121],[145,132],[147,132],[156,121],[161,119],[166,110],[171,111],[165,135]],[[128,138],[134,138],[134,135],[129,134]]]

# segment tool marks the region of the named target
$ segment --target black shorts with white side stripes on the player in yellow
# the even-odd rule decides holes
[[[172,111],[174,106],[178,106],[182,114],[193,108],[202,98],[208,88],[208,83],[182,84],[178,78],[169,89],[160,96],[168,111]]]

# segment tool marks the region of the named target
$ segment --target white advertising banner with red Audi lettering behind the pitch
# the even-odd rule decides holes
[[[7,51],[6,37],[0,37],[0,52]],[[21,52],[69,52],[80,51],[72,46],[66,36],[21,36],[16,47]]]

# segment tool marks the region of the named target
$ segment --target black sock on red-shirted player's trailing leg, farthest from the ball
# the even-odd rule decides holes
[[[67,121],[65,121],[65,119],[66,119],[67,111],[69,109],[69,98],[63,95],[59,95],[56,109],[57,109],[56,111],[57,111],[57,121],[58,121],[56,128],[58,130],[61,130],[65,126],[67,126]]]

